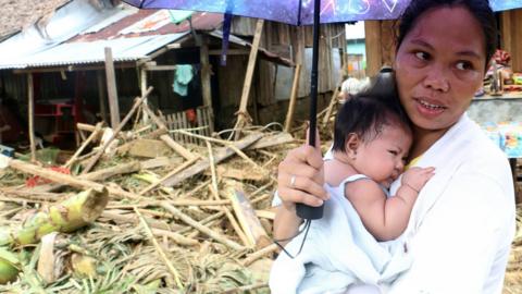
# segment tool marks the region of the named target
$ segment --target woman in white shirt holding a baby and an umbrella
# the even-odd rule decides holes
[[[512,177],[506,157],[464,114],[495,50],[494,14],[486,0],[412,0],[397,44],[400,102],[413,123],[409,159],[437,173],[405,233],[413,264],[385,292],[501,293],[515,228]],[[296,203],[328,199],[323,183],[316,149],[288,154],[278,169],[275,238],[298,231]]]

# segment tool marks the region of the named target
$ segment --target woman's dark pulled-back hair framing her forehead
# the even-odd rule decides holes
[[[497,48],[497,21],[489,7],[488,0],[411,0],[399,19],[399,36],[397,37],[397,50],[406,35],[415,26],[419,17],[426,11],[440,7],[464,7],[476,19],[482,27],[486,49],[486,70]],[[443,20],[440,20],[443,21]]]

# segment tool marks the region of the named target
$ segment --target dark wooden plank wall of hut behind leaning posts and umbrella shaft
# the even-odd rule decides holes
[[[256,19],[235,17],[232,23],[231,34],[240,36],[244,39],[252,40],[256,30]],[[282,23],[264,22],[260,47],[277,53],[281,57],[291,59],[295,63],[302,64],[299,76],[298,109],[296,119],[300,120],[301,112],[308,115],[308,99],[310,94],[310,68],[311,68],[311,47],[313,32],[311,26],[297,27]],[[345,25],[327,24],[321,26],[320,38],[320,64],[319,64],[319,87],[320,102],[319,107],[327,105],[330,96],[340,82],[340,66],[335,69],[333,63],[335,48],[346,48]],[[307,57],[308,56],[308,57]],[[221,100],[220,110],[216,110],[217,119],[234,118],[237,111],[245,72],[247,68],[248,56],[228,56],[226,68],[217,69],[219,95]],[[282,71],[288,71],[288,68],[277,65],[258,58],[252,78],[252,86],[248,103],[248,112],[254,123],[264,124],[273,121],[284,121],[288,100],[278,100],[275,97],[276,83],[281,83]],[[215,69],[215,68],[214,68]],[[294,71],[294,69],[289,69]],[[334,73],[338,74],[334,74]],[[287,73],[288,74],[288,73]],[[234,77],[231,78],[231,75]],[[291,78],[288,84],[288,98],[291,87]],[[279,94],[281,95],[281,94]],[[220,123],[220,122],[219,122]],[[223,124],[223,122],[221,122]],[[229,126],[224,123],[223,126]]]

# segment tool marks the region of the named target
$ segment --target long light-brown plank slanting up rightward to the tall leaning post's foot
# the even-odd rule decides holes
[[[251,135],[248,135],[244,139],[234,143],[234,146],[236,146],[236,148],[238,148],[238,149],[245,149],[248,146],[252,145],[258,139],[260,139],[262,136],[263,136],[262,134],[253,133]],[[234,154],[235,152],[232,148],[226,148],[226,147],[220,148],[215,151],[214,162],[219,163],[219,162],[225,160],[226,158],[231,157]],[[176,174],[176,175],[174,175],[170,179],[165,179],[165,181],[163,182],[163,185],[174,186],[174,185],[181,183],[182,181],[187,180],[188,177],[190,177],[192,175],[196,175],[198,173],[203,172],[209,167],[210,167],[210,162],[209,162],[208,159],[200,160],[200,161],[196,162],[192,167],[184,170],[183,172],[181,172],[181,173],[178,173],[178,174]]]

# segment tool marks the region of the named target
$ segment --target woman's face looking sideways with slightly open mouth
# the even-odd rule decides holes
[[[395,61],[400,101],[417,128],[446,131],[481,87],[486,62],[478,22],[464,8],[427,11]]]

